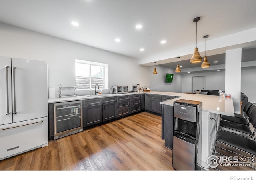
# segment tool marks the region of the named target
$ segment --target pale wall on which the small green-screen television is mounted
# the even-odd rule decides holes
[[[147,87],[153,91],[164,92],[181,92],[182,90],[182,74],[178,74],[172,68],[156,65],[157,74],[153,74],[154,66],[148,67],[149,84]],[[166,73],[173,74],[173,81],[166,83]]]

